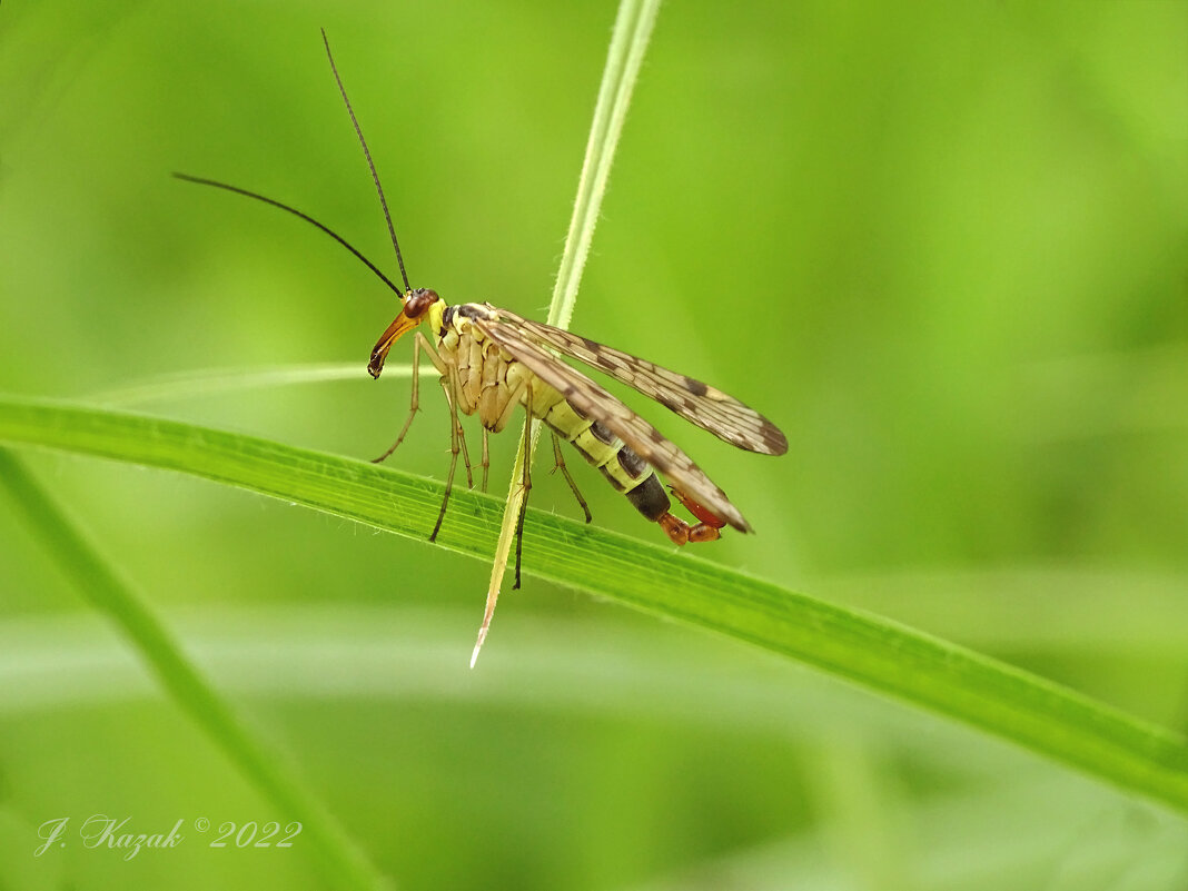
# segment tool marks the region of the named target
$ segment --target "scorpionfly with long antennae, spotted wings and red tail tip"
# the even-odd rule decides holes
[[[677,446],[664,438],[647,421],[628,409],[589,377],[561,361],[576,359],[640,393],[655,399],[697,426],[748,451],[782,455],[788,450],[784,435],[767,418],[739,400],[695,378],[662,368],[619,349],[595,343],[561,328],[533,322],[489,303],[448,305],[436,291],[412,287],[396,238],[387,200],[379,182],[367,140],[355,118],[346,88],[339,76],[330,44],[322,32],[330,70],[350,115],[364,157],[379,194],[392,247],[404,287],[399,287],[346,239],[308,214],[279,201],[215,179],[175,173],[202,185],[236,192],[285,210],[335,239],[361,260],[402,301],[399,314],[372,349],[367,371],[379,378],[392,346],[405,334],[413,334],[410,410],[392,446],[377,462],[388,457],[404,441],[419,406],[419,364],[424,352],[441,375],[441,386],[450,410],[450,465],[446,478],[437,523],[429,536],[435,541],[446,518],[459,455],[473,486],[470,460],[459,413],[478,415],[482,426],[482,488],[486,489],[489,451],[488,434],[503,431],[517,409],[550,428],[556,467],[562,470],[580,506],[590,522],[589,508],[564,465],[560,441],[570,443],[609,484],[649,520],[657,523],[675,544],[710,542],[729,525],[740,532],[751,526],[726,493]],[[422,328],[428,329],[428,336]],[[527,442],[525,437],[525,443]],[[525,456],[526,457],[526,456]],[[524,461],[523,485],[531,488],[529,462]],[[694,518],[689,523],[672,513],[672,503],[659,481],[663,475],[672,495]],[[526,498],[524,500],[526,504]],[[517,526],[516,584],[520,581],[524,512]]]

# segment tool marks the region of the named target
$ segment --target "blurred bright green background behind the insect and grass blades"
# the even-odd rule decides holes
[[[613,19],[5,4],[0,390],[356,362],[133,407],[378,454],[407,398],[364,369],[392,296],[309,227],[169,172],[292,202],[392,268],[324,26],[413,284],[543,317]],[[758,530],[700,556],[1188,725],[1188,5],[666,5],[574,329],[788,432],[764,459],[652,415]],[[426,394],[393,460],[441,478]],[[470,672],[484,564],[29,459],[400,887],[1188,885],[1182,821],[763,652],[529,580]],[[575,469],[595,523],[661,541]],[[576,513],[560,480],[532,498]],[[320,887],[299,839],[32,857],[61,816],[297,817],[8,508],[0,552],[0,887]]]

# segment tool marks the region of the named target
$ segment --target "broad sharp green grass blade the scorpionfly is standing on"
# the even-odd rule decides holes
[[[423,541],[442,486],[175,421],[0,398],[0,441],[181,470]],[[459,491],[437,543],[491,558],[501,503]],[[525,570],[815,665],[1188,813],[1188,740],[895,623],[670,548],[529,511]]]

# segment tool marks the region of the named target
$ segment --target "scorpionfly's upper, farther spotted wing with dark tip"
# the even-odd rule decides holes
[[[779,428],[721,390],[551,324],[533,322],[505,309],[497,312],[532,340],[606,372],[732,446],[763,455],[788,451],[788,440]]]

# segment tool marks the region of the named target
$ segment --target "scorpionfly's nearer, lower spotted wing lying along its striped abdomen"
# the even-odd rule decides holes
[[[473,317],[472,321],[487,337],[560,392],[577,411],[601,422],[611,432],[630,446],[637,455],[663,474],[670,484],[715,516],[721,517],[734,529],[741,532],[751,531],[750,524],[731,504],[726,493],[706,476],[704,472],[693,462],[693,459],[665,440],[655,426],[624,405],[617,397],[532,342],[519,330],[518,323],[511,320],[504,322],[493,315],[486,318]]]

